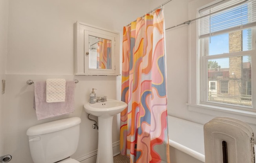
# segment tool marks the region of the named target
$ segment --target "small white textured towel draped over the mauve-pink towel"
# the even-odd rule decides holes
[[[46,102],[65,102],[66,80],[47,79],[46,80]]]

